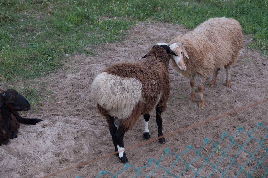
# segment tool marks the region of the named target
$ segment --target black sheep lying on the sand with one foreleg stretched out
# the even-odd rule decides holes
[[[0,146],[7,144],[9,139],[17,138],[16,132],[22,124],[35,125],[42,119],[23,118],[17,111],[28,111],[29,102],[15,89],[3,91],[0,89]]]

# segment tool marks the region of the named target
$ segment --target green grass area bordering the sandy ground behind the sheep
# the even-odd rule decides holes
[[[16,87],[55,72],[66,54],[94,55],[97,44],[122,41],[125,30],[148,19],[193,29],[212,17],[235,18],[253,35],[251,48],[267,49],[267,14],[265,0],[0,0],[0,82]]]

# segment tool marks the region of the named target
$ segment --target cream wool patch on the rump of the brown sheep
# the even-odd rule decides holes
[[[111,87],[113,90],[115,81],[121,82],[125,91],[117,95],[112,93]],[[96,76],[91,85],[91,96],[94,102],[109,111],[110,116],[117,117],[118,119],[126,119],[131,115],[134,106],[138,102],[144,102],[141,88],[141,82],[135,78],[122,78],[102,72]],[[120,91],[120,88],[115,89],[116,91]]]

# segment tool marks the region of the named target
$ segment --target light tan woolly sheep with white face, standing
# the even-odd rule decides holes
[[[195,100],[194,77],[198,74],[199,107],[205,107],[203,82],[213,70],[209,83],[214,86],[218,71],[226,69],[226,83],[230,87],[230,66],[237,61],[242,48],[243,34],[238,21],[230,18],[211,18],[194,30],[170,41],[170,49],[178,56],[173,57],[175,69],[190,78],[190,100]]]

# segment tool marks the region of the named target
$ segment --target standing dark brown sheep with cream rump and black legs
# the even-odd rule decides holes
[[[91,96],[98,111],[106,117],[115,151],[126,163],[124,134],[143,115],[143,137],[149,139],[150,111],[156,109],[158,136],[163,136],[161,113],[167,107],[170,94],[169,54],[176,54],[165,43],[158,43],[136,63],[112,65],[98,74],[91,85]],[[165,143],[165,138],[159,139]]]

